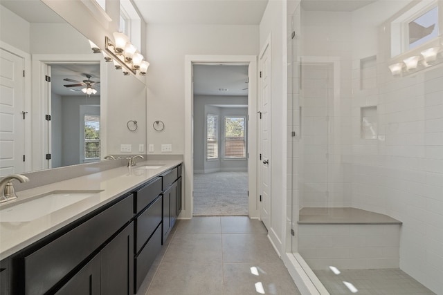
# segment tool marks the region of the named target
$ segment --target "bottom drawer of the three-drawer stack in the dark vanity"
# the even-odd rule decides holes
[[[157,227],[154,231],[154,234],[150,238],[149,242],[147,242],[146,246],[143,250],[136,256],[135,258],[135,281],[134,287],[135,292],[138,291],[141,283],[145,279],[147,272],[150,270],[152,263],[161,251],[161,226]]]

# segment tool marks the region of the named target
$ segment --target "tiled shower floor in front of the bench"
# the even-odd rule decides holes
[[[340,269],[314,270],[331,295],[338,294],[384,294],[384,295],[431,295],[435,294],[400,269]],[[345,286],[351,283],[356,292]],[[355,290],[354,290],[355,291]]]

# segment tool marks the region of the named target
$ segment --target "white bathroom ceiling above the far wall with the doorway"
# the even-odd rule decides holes
[[[134,0],[148,24],[258,25],[268,0]]]

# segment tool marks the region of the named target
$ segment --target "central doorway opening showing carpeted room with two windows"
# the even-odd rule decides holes
[[[248,215],[248,66],[194,64],[193,216]]]

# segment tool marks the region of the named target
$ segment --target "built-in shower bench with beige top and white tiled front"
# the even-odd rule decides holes
[[[306,207],[298,221],[298,252],[311,269],[399,267],[401,221],[352,207]]]

